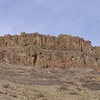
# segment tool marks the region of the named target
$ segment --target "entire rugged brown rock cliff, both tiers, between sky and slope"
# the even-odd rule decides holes
[[[48,67],[99,67],[100,47],[69,35],[39,33],[0,37],[0,62]]]

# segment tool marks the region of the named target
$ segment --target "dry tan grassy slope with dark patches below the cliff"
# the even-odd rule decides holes
[[[100,100],[100,71],[0,64],[0,100]]]

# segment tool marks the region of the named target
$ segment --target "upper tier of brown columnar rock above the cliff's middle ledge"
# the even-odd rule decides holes
[[[82,38],[70,35],[53,37],[49,35],[40,35],[39,33],[27,34],[22,32],[20,35],[5,35],[4,37],[0,37],[0,47],[28,45],[40,46],[41,48],[47,49],[91,51],[90,41],[85,41]]]

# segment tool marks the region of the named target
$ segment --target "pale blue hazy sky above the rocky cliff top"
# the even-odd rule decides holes
[[[100,45],[100,0],[0,0],[0,35],[70,34]]]

